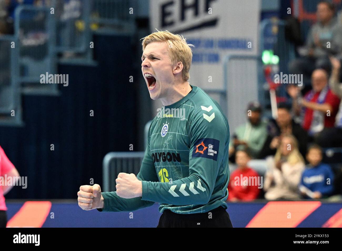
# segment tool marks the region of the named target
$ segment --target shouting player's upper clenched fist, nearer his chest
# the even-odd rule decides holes
[[[116,194],[130,199],[141,197],[143,194],[142,182],[134,174],[119,173],[116,181]]]

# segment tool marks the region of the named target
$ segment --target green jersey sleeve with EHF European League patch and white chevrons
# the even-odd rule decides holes
[[[216,106],[201,107],[195,109],[187,126],[189,176],[169,182],[142,181],[142,200],[177,206],[205,205],[210,201],[219,169],[223,168],[229,127]],[[211,116],[202,110],[210,110]]]

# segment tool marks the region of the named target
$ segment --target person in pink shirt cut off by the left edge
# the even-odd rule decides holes
[[[5,175],[6,177],[18,177],[19,173],[0,146],[0,179],[2,179],[0,180],[0,227],[6,227],[7,224],[7,207],[4,195],[13,187],[5,186]]]

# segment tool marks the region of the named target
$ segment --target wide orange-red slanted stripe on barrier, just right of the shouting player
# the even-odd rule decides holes
[[[320,205],[320,201],[268,202],[246,227],[297,227]]]

